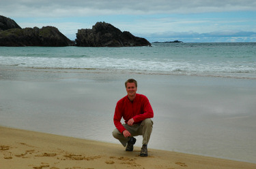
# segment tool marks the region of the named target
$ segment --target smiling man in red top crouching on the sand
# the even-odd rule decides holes
[[[153,128],[154,112],[146,96],[137,94],[137,81],[128,79],[125,83],[127,96],[120,99],[115,107],[113,136],[117,138],[126,151],[133,151],[136,142],[134,136],[143,136],[141,157],[147,157],[147,143]],[[125,124],[121,124],[122,117]]]

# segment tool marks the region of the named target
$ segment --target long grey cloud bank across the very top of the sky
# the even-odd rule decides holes
[[[0,14],[9,17],[191,14],[255,10],[255,0],[8,0],[1,1],[0,6]]]

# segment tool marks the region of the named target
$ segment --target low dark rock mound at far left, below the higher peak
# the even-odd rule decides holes
[[[53,26],[0,31],[0,46],[68,46],[74,45]]]

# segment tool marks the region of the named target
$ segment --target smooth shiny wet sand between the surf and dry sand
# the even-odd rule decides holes
[[[0,126],[116,143],[120,150],[113,113],[130,77],[154,109],[149,149],[256,162],[253,79],[0,67]],[[141,142],[138,136],[135,146]]]

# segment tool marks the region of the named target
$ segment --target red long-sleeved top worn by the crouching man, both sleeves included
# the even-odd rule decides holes
[[[133,102],[129,100],[128,96],[125,96],[117,102],[115,107],[114,124],[121,133],[126,130],[121,124],[122,117],[126,124],[131,118],[134,119],[134,124],[137,124],[144,119],[154,117],[154,112],[147,97],[136,94]]]

